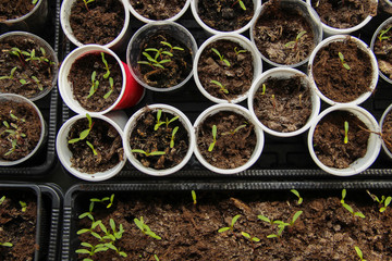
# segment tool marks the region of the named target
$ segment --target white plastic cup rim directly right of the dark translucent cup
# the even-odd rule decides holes
[[[203,53],[203,51],[212,42],[218,41],[218,40],[230,40],[232,42],[238,44],[240,46],[242,46],[242,48],[246,49],[247,51],[249,51],[252,53],[252,58],[253,58],[253,65],[254,65],[254,78],[253,82],[255,82],[255,79],[261,74],[262,71],[262,63],[261,63],[261,59],[258,54],[258,51],[256,51],[256,47],[244,36],[238,35],[238,34],[219,34],[219,35],[215,35],[210,38],[208,38],[198,49],[196,57],[195,57],[195,61],[194,61],[194,65],[193,65],[193,73],[194,73],[194,79],[196,83],[197,88],[200,90],[200,92],[209,100],[216,102],[216,103],[228,103],[229,101],[225,99],[220,99],[217,98],[215,96],[211,96],[201,85],[199,76],[198,76],[198,62],[200,59],[200,55]],[[250,87],[249,87],[250,88]],[[245,100],[248,97],[249,91],[246,91],[245,94],[238,96],[235,99],[230,100],[230,103],[238,103],[243,100]]]

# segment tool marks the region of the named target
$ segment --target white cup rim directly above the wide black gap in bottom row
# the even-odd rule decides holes
[[[270,77],[272,77],[272,78],[291,78],[293,76],[301,76],[302,84],[307,86],[310,91],[311,114],[310,114],[308,121],[306,122],[306,124],[303,127],[298,128],[297,130],[290,132],[290,133],[277,132],[277,130],[273,130],[273,129],[267,127],[258,120],[258,117],[255,113],[255,109],[254,109],[255,95],[258,91],[258,89],[260,88],[260,86],[262,85],[262,83],[265,83]],[[249,90],[249,97],[248,97],[248,109],[249,109],[253,120],[257,123],[257,125],[262,130],[265,130],[266,133],[268,133],[274,137],[279,137],[279,138],[294,137],[294,136],[297,136],[297,135],[306,132],[310,127],[310,125],[315,122],[317,115],[319,114],[320,103],[321,103],[320,98],[316,95],[314,89],[310,87],[310,80],[306,76],[306,74],[304,74],[303,72],[301,72],[296,69],[290,69],[290,67],[277,67],[277,69],[268,70],[265,73],[262,73],[260,75],[260,77],[258,77],[255,80],[255,83],[252,85],[250,90]]]

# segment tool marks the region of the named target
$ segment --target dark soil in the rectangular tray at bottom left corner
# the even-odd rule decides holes
[[[0,191],[5,200],[0,208],[0,243],[11,243],[12,247],[0,246],[0,260],[33,261],[36,245],[37,203],[30,194]],[[20,201],[27,204],[22,211]]]

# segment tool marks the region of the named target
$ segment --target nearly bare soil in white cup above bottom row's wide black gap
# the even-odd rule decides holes
[[[309,86],[302,76],[291,78],[269,77],[255,94],[254,110],[258,120],[268,128],[291,133],[302,128],[311,114]]]

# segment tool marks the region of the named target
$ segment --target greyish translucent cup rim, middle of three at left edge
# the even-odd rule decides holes
[[[5,38],[11,38],[11,37],[24,37],[24,38],[29,38],[33,41],[35,41],[38,46],[42,47],[45,49],[45,51],[47,52],[47,55],[50,58],[50,61],[54,62],[54,64],[51,66],[52,69],[52,80],[51,80],[51,85],[50,86],[45,86],[42,91],[37,92],[36,96],[28,98],[32,101],[36,101],[39,100],[41,98],[44,98],[45,96],[47,96],[56,86],[56,83],[58,80],[58,66],[59,66],[59,59],[57,57],[57,53],[54,52],[53,48],[42,38],[40,38],[37,35],[27,33],[27,32],[10,32],[10,33],[5,33],[3,35],[0,36],[0,42],[2,40],[4,40]]]

